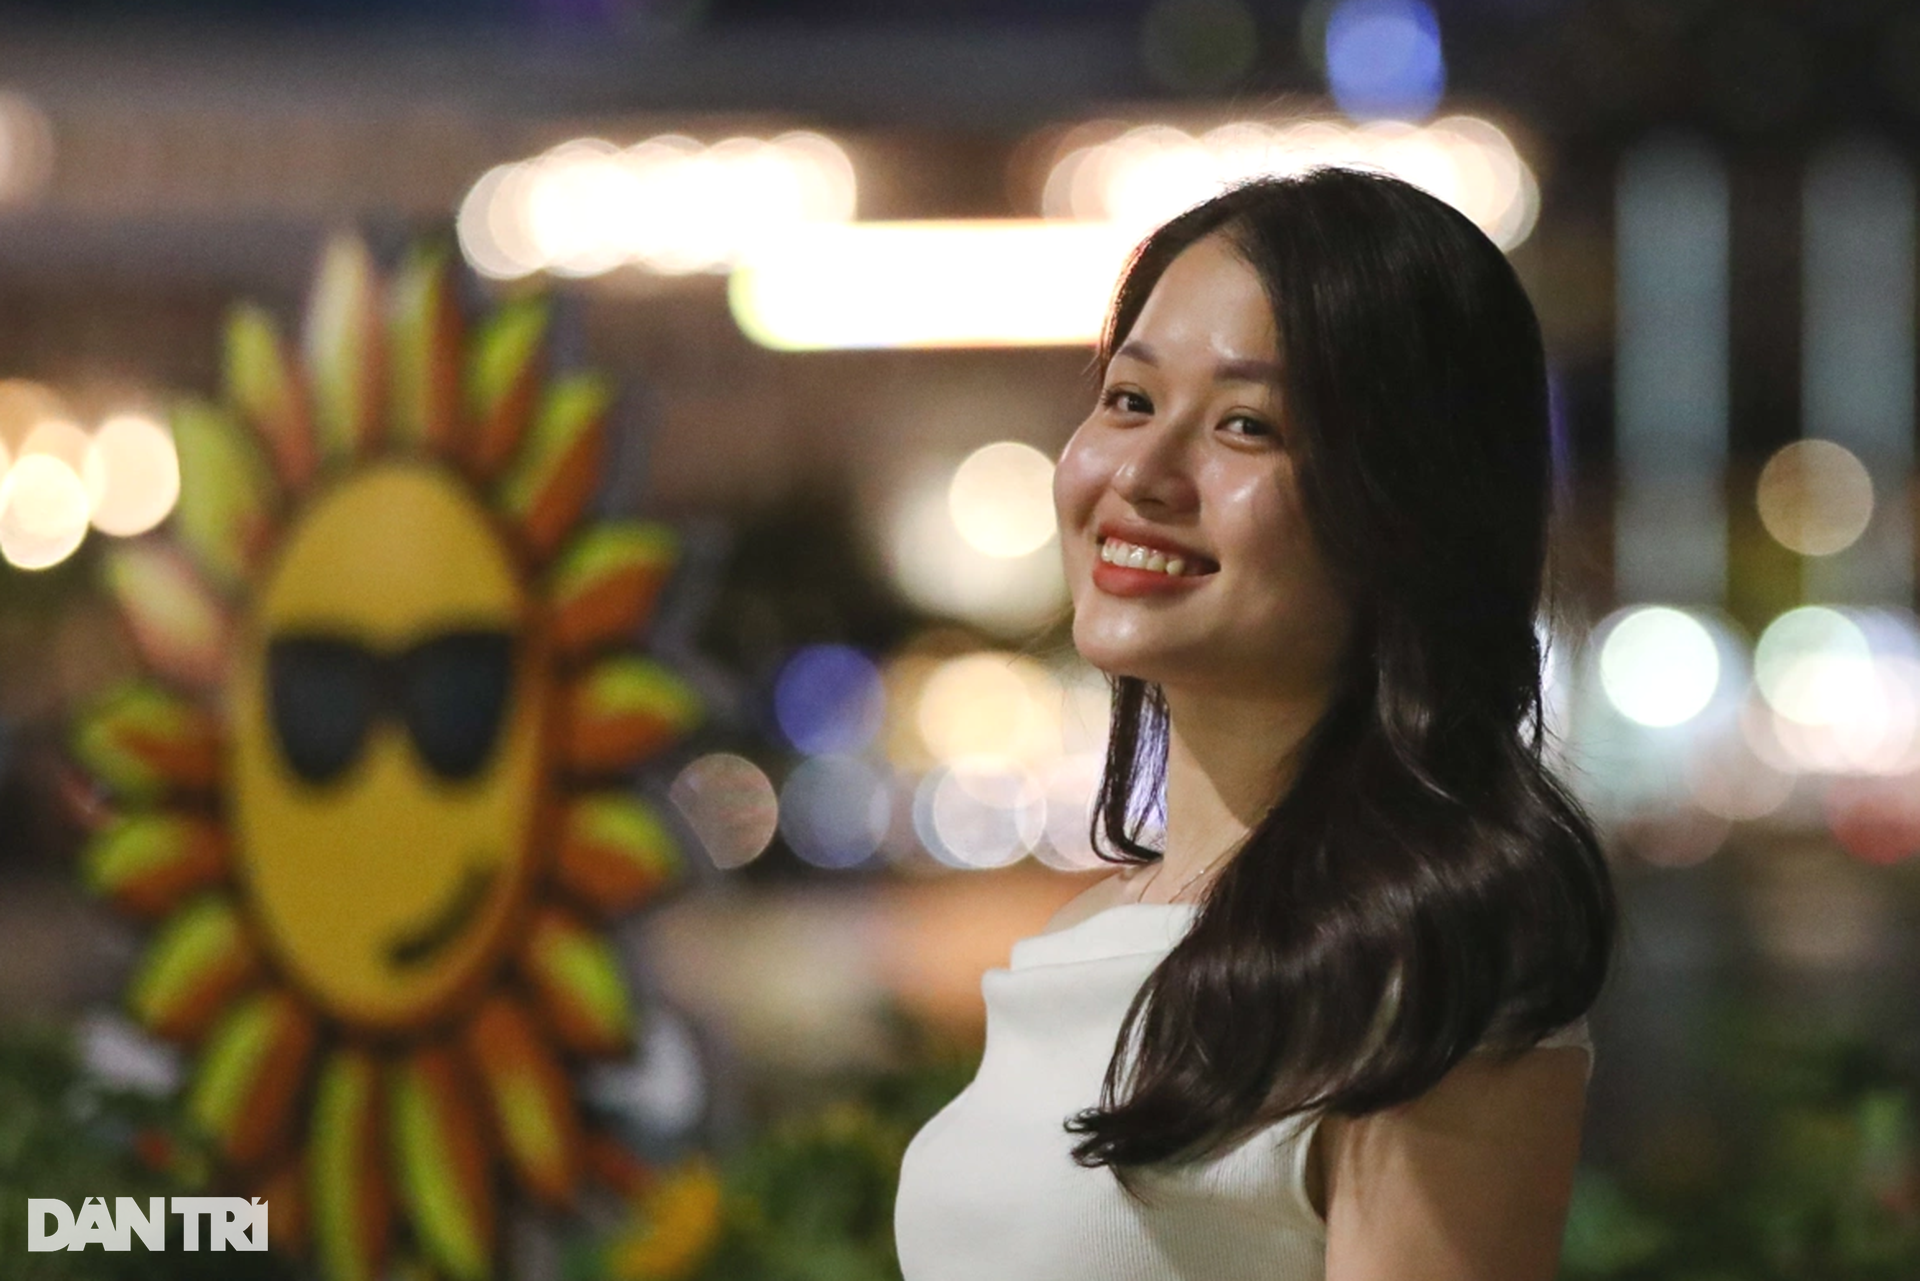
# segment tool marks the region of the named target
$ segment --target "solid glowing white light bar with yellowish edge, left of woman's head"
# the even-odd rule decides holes
[[[728,302],[781,351],[1091,346],[1137,240],[1069,219],[797,227],[749,250]]]

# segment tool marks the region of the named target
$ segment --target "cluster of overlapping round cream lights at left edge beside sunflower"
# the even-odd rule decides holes
[[[173,436],[144,415],[113,415],[88,432],[50,388],[0,380],[0,557],[50,568],[88,526],[132,536],[159,524],[180,495]]]

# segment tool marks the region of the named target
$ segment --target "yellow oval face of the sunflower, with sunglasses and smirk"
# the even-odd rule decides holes
[[[549,703],[507,547],[438,469],[386,463],[290,532],[234,672],[240,870],[332,1014],[403,1026],[501,947]]]

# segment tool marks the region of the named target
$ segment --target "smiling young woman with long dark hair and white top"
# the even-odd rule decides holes
[[[1121,870],[987,972],[904,1277],[1548,1281],[1617,906],[1542,761],[1534,311],[1317,169],[1154,232],[1100,375],[1054,497]]]

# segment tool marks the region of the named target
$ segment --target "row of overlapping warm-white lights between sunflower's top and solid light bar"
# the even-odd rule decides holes
[[[486,277],[591,277],[624,265],[687,275],[728,271],[787,227],[845,223],[854,205],[852,161],[818,133],[712,146],[682,134],[628,148],[574,138],[484,173],[455,227]]]

